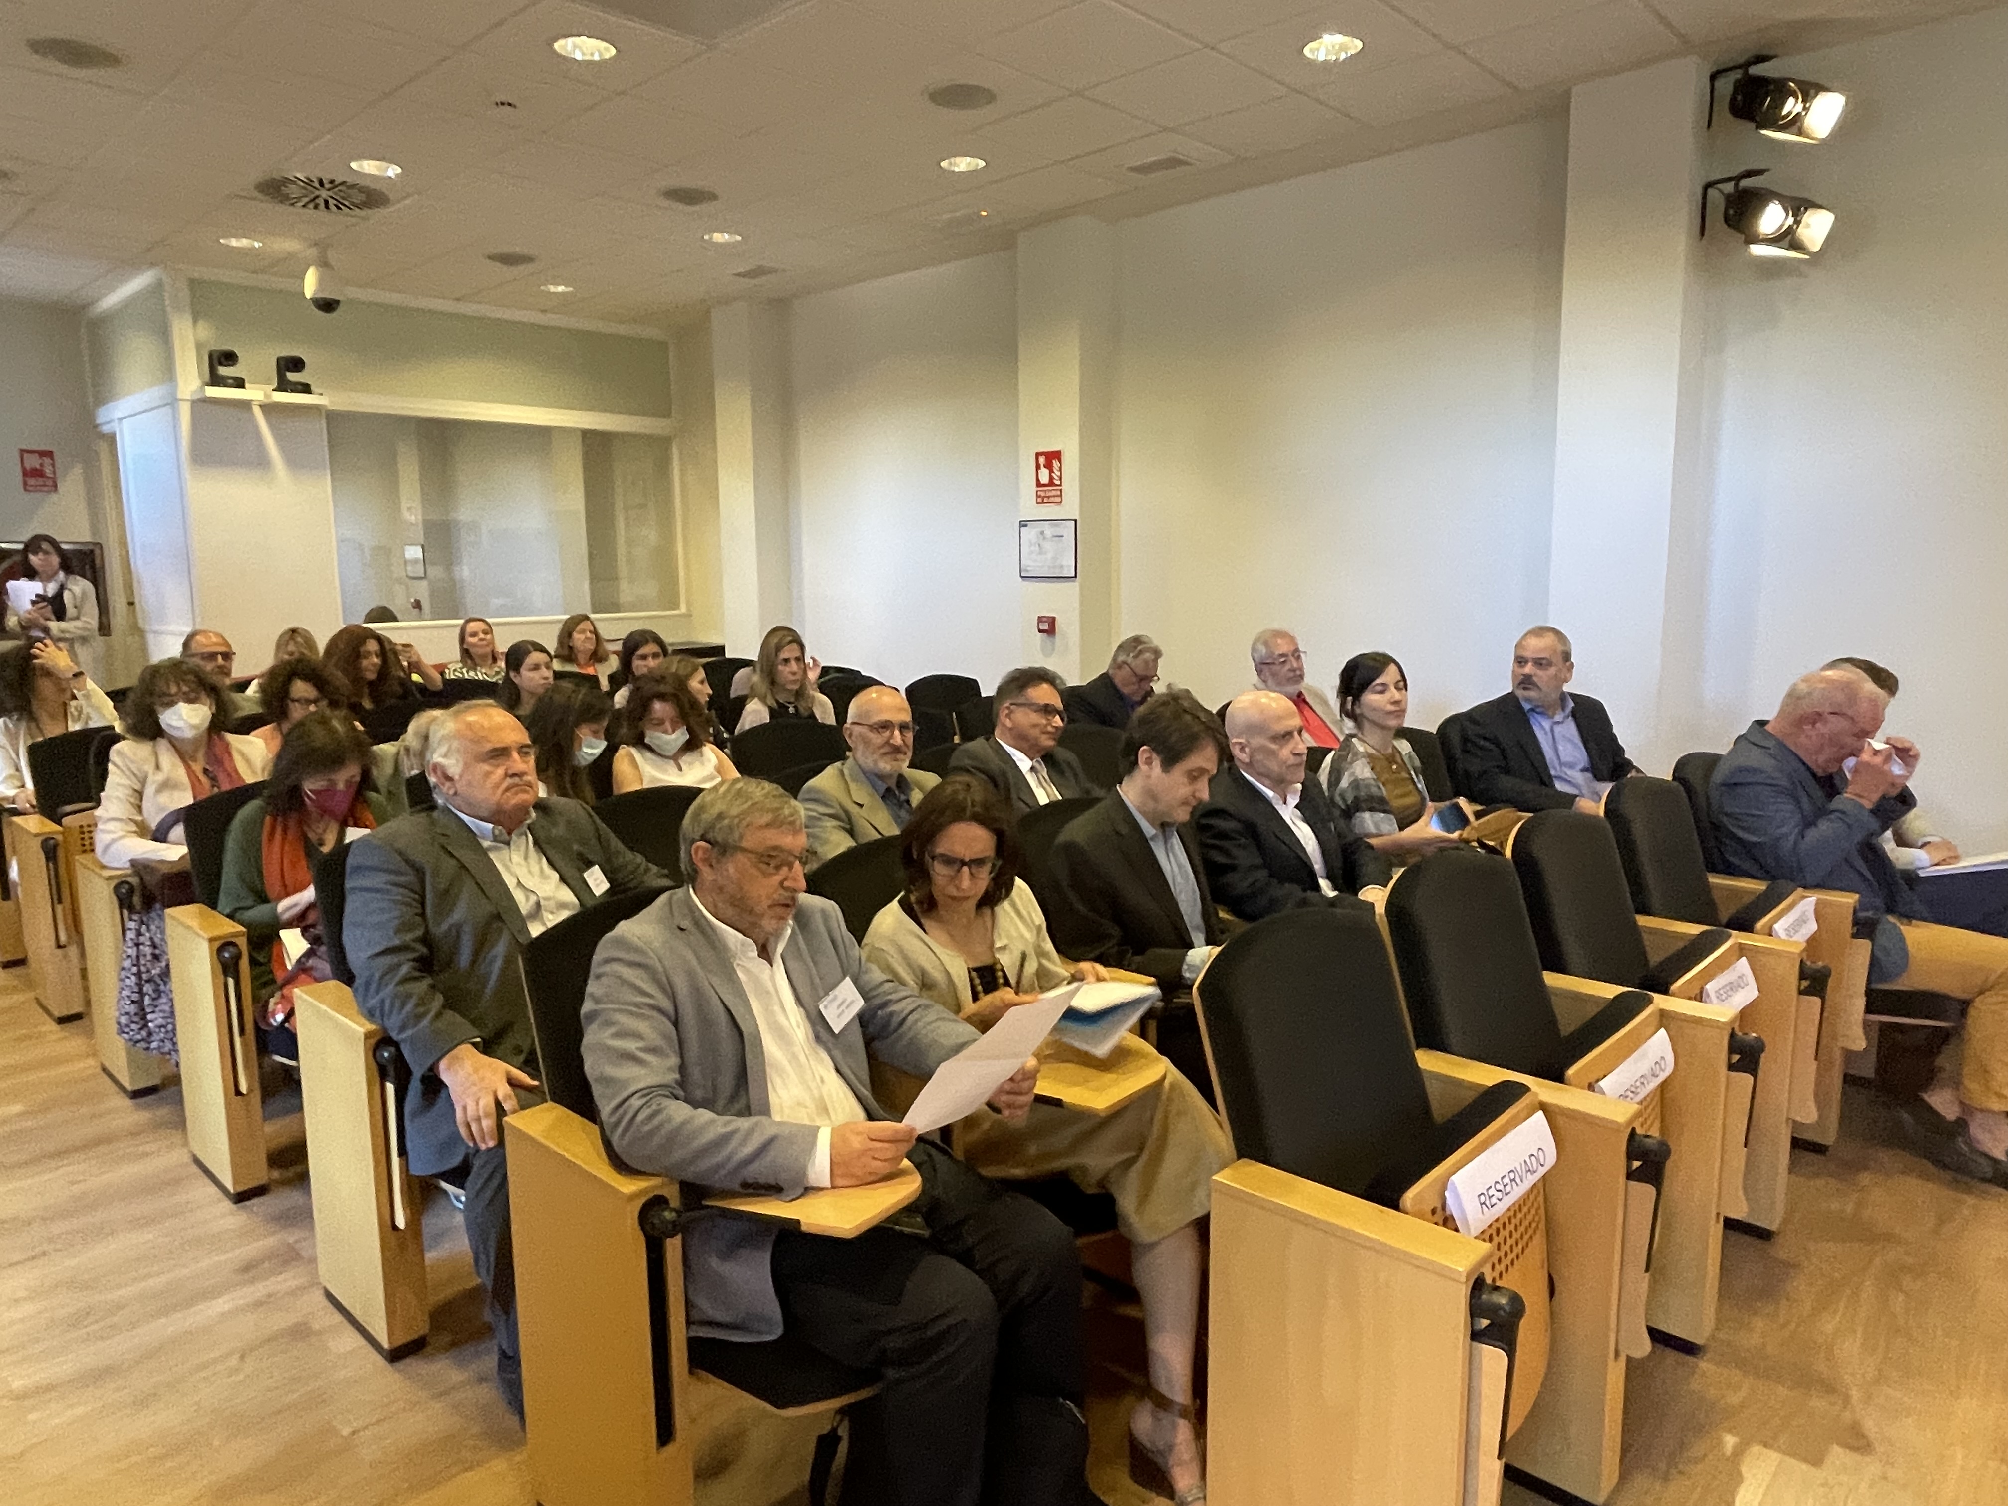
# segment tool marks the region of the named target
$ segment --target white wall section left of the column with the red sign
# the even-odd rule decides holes
[[[1012,261],[793,305],[795,626],[825,663],[896,685],[1020,663]]]

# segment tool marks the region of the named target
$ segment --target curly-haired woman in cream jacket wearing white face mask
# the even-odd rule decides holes
[[[185,855],[181,813],[271,769],[263,743],[223,731],[221,701],[215,683],[185,659],[161,659],[139,673],[98,801],[102,863],[131,867],[135,857]]]

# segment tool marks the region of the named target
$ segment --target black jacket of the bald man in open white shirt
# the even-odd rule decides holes
[[[1305,779],[1297,813],[1325,853],[1331,888],[1357,894],[1394,877],[1394,865],[1337,819],[1315,779]],[[1335,904],[1317,888],[1317,869],[1297,833],[1235,765],[1213,777],[1213,799],[1199,807],[1193,825],[1207,882],[1233,916],[1263,920],[1297,906]]]

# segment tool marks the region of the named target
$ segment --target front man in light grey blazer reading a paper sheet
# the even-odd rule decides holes
[[[683,1243],[691,1333],[783,1331],[875,1369],[853,1408],[845,1502],[1086,1496],[1080,1267],[1066,1227],[894,1122],[867,1052],[930,1076],[976,1032],[863,966],[843,916],[805,896],[801,807],[733,779],[683,817],[691,888],[592,960],[584,1064],[614,1153],[707,1191],[795,1197],[910,1161],[920,1227],[825,1239],[713,1215]],[[1038,1062],[992,1096],[1020,1118]]]

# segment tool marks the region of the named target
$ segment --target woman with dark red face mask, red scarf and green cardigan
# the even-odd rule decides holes
[[[219,910],[245,928],[259,1032],[281,1062],[299,1060],[293,990],[325,982],[313,859],[388,819],[369,779],[369,737],[333,711],[285,731],[265,793],[231,821]]]

